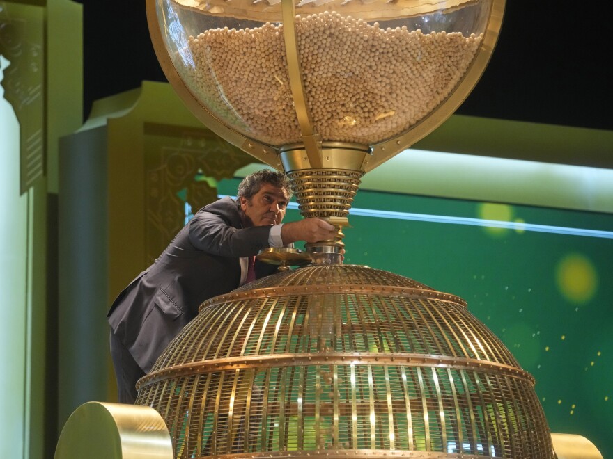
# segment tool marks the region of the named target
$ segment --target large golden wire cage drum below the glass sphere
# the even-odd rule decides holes
[[[554,458],[534,378],[465,301],[366,266],[203,303],[137,404],[177,458]]]

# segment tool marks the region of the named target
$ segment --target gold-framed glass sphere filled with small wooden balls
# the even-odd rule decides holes
[[[399,151],[472,90],[504,1],[148,3],[169,81],[231,143],[228,129],[273,149],[305,135],[372,146],[414,130]]]

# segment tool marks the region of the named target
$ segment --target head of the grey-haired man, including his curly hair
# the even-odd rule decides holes
[[[254,226],[281,223],[290,197],[289,180],[283,172],[258,170],[238,185],[240,209]]]

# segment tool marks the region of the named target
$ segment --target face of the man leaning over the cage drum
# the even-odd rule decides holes
[[[254,226],[278,225],[285,216],[288,195],[283,188],[263,184],[250,200],[240,198],[240,208]]]

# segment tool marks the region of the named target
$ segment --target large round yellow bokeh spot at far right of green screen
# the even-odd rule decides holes
[[[560,293],[573,303],[587,303],[598,289],[598,273],[591,260],[573,253],[562,258],[556,267]]]

